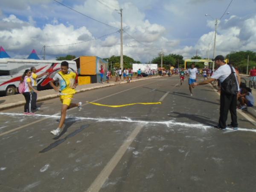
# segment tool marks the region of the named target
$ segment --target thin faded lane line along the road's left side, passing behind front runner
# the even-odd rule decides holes
[[[108,98],[108,97],[117,95],[117,94],[119,94],[119,93],[123,93],[123,92],[125,92],[125,91],[132,90],[132,89],[135,89],[135,88],[137,88],[137,87],[145,86],[145,85],[148,85],[148,84],[153,84],[153,83],[155,83],[155,82],[158,82],[158,81],[154,81],[154,82],[142,84],[142,85],[139,85],[139,86],[136,86],[136,87],[132,87],[132,88],[129,88],[129,89],[126,89],[126,90],[122,90],[122,91],[120,91],[120,92],[113,93],[113,94],[111,94],[111,95],[109,95],[109,96],[105,96],[105,97],[102,97],[102,98],[100,98],[100,99],[96,99],[96,100],[94,100],[94,101],[92,101],[92,102],[97,102],[97,101],[99,101],[99,100],[102,100],[102,99],[105,99],[105,98]],[[84,106],[84,105],[89,105],[89,103],[85,103],[85,104],[83,104],[82,106]],[[71,109],[68,109],[67,111],[71,111],[71,110],[74,110],[74,109],[77,109],[77,108],[71,108]],[[61,113],[55,113],[55,114],[53,114],[52,116],[57,116],[57,115],[59,115],[59,114],[61,114]],[[5,131],[5,132],[3,132],[3,133],[0,134],[0,137],[3,136],[3,135],[6,135],[6,134],[12,133],[12,132],[14,132],[14,131],[20,130],[20,129],[22,129],[22,128],[25,128],[25,127],[27,127],[27,126],[29,126],[29,125],[34,125],[35,123],[44,121],[45,119],[48,119],[48,118],[50,118],[50,116],[49,116],[49,117],[45,117],[45,118],[43,118],[43,119],[39,119],[39,120],[37,120],[37,121],[28,123],[28,124],[26,124],[26,125],[23,125],[23,126],[20,126],[20,127],[17,127],[17,128],[14,128],[14,129],[12,129],[12,130]]]

